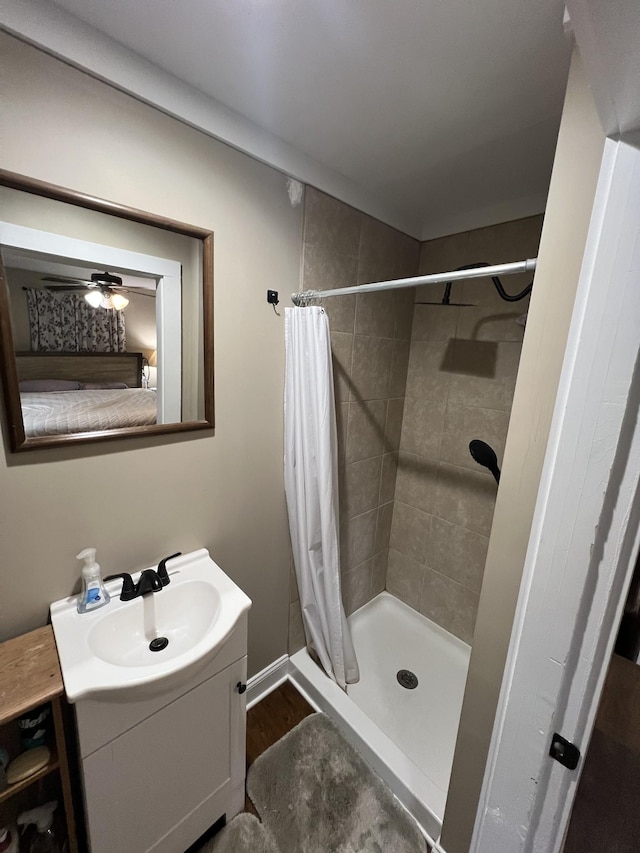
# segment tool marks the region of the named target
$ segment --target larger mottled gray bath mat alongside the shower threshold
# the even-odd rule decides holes
[[[247,791],[281,853],[427,849],[410,815],[324,714],[306,717],[259,756]]]

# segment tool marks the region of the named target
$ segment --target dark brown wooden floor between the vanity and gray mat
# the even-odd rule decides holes
[[[247,769],[265,749],[284,737],[314,709],[291,684],[285,681],[247,712]],[[249,797],[245,811],[258,816]]]

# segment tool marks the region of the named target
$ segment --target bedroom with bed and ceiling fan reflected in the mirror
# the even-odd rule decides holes
[[[158,410],[156,279],[7,248],[2,260],[27,438],[171,422]]]

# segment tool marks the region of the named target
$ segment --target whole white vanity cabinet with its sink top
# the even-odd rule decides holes
[[[169,585],[78,614],[51,606],[78,727],[91,853],[183,853],[244,806],[247,596],[206,550]],[[168,644],[151,651],[152,640]],[[156,644],[156,645],[162,645]]]

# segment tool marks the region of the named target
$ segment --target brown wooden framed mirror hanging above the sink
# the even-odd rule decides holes
[[[214,426],[213,232],[0,170],[11,451]]]

